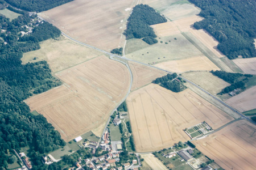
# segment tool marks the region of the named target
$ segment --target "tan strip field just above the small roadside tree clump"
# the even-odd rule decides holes
[[[175,73],[183,73],[185,71],[220,70],[205,56],[167,61],[158,63],[155,66]]]

